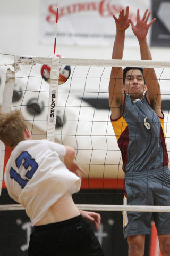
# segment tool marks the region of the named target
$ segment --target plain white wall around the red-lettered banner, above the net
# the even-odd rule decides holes
[[[40,57],[47,57],[53,54],[54,45],[39,44],[39,10],[40,0],[0,1],[0,53],[37,55]],[[112,46],[78,47],[57,45],[56,52],[66,58],[110,59]],[[170,48],[151,48],[151,53],[154,60],[170,60]],[[125,49],[124,59],[140,59],[139,49]]]

